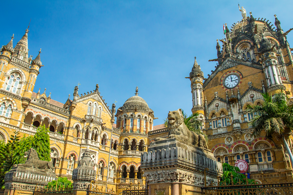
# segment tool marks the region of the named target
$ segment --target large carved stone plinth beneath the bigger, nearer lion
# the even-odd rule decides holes
[[[209,150],[178,138],[152,142],[141,156],[140,168],[151,194],[202,194],[205,181],[217,183],[222,174],[222,164]]]

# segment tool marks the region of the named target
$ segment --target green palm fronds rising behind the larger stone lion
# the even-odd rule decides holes
[[[193,131],[198,135],[199,134],[204,135],[205,139],[208,141],[207,134],[203,133],[202,130],[200,130],[200,127],[202,127],[202,122],[197,119],[197,117],[199,116],[199,113],[194,113],[194,114],[191,114],[189,117],[187,117],[187,114],[182,109],[181,111],[183,115],[184,124],[186,125],[186,127],[190,131]],[[165,127],[168,126],[168,118],[164,120],[164,124],[165,124]]]

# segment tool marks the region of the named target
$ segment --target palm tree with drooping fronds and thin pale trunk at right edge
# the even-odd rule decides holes
[[[264,102],[261,106],[247,106],[246,111],[254,113],[249,123],[253,128],[253,134],[260,136],[265,132],[268,139],[273,136],[283,140],[289,153],[291,167],[293,167],[293,155],[286,141],[293,127],[293,107],[288,105],[286,95],[279,92],[274,96],[268,93],[263,94]]]

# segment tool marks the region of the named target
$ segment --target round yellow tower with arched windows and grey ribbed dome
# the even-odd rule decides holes
[[[140,156],[147,151],[148,132],[153,129],[154,111],[149,108],[144,99],[138,96],[136,87],[135,96],[125,101],[117,110],[117,128],[120,129],[119,148],[119,178],[118,189],[131,183],[145,185],[140,172]]]

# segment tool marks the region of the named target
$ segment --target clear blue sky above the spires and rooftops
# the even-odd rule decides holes
[[[29,55],[42,48],[34,92],[65,103],[78,83],[79,94],[95,89],[116,109],[135,93],[153,109],[154,125],[169,110],[191,114],[188,77],[194,56],[205,77],[214,70],[216,39],[223,23],[242,19],[238,9],[272,24],[277,14],[284,31],[293,27],[292,1],[5,1],[1,2],[0,44],[13,46],[30,23]],[[247,14],[249,15],[249,14]],[[293,41],[293,32],[287,35]],[[293,44],[293,43],[292,43]],[[292,46],[291,46],[292,47]]]

